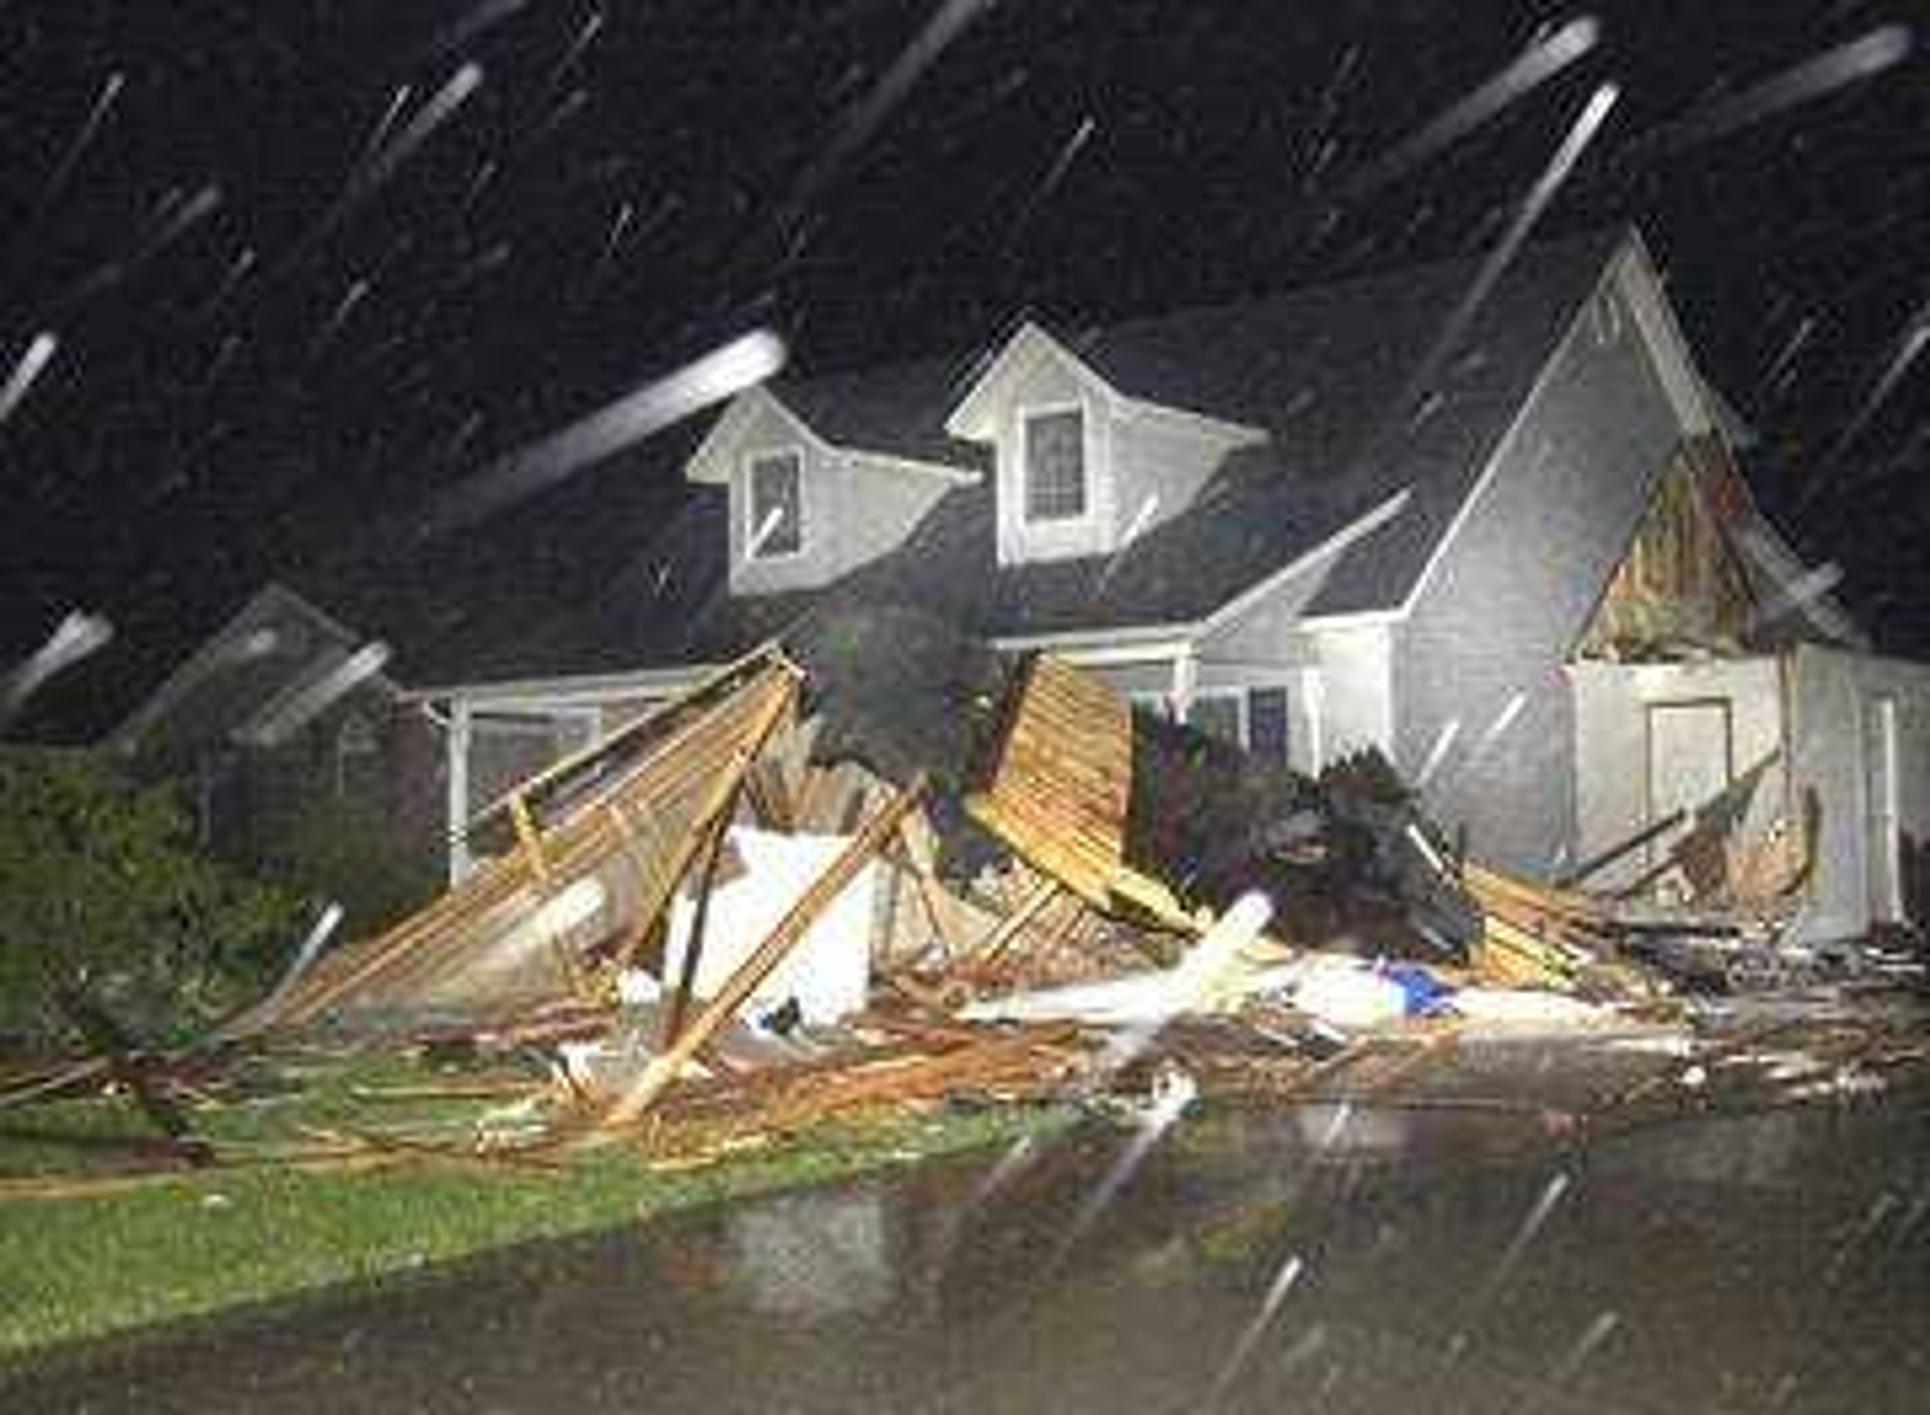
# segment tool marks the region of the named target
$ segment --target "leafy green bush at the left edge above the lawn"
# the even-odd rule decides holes
[[[170,786],[87,755],[0,755],[0,1035],[62,1033],[71,986],[149,1039],[189,1033],[261,985],[303,915],[199,853]]]

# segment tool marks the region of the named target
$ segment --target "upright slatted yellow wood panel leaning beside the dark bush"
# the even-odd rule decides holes
[[[1172,894],[1125,865],[1133,793],[1133,712],[1090,674],[1034,658],[1007,703],[1006,730],[973,818],[1087,903],[1131,903],[1193,929]]]

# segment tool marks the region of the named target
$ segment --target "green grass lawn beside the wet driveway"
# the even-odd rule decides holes
[[[351,1087],[421,1081],[405,1062],[317,1077],[303,1095],[207,1108],[205,1133],[239,1149],[301,1124],[459,1125],[477,1102],[371,1102]],[[403,1114],[405,1112],[405,1114]],[[106,1332],[419,1270],[492,1247],[625,1224],[648,1214],[814,1183],[1069,1124],[1011,1108],[845,1120],[703,1168],[648,1168],[621,1147],[562,1174],[455,1168],[363,1172],[234,1168],[73,1199],[0,1199],[0,1359]],[[52,1135],[139,1135],[112,1104],[0,1116],[0,1174],[75,1172]],[[21,1131],[31,1127],[39,1139]],[[91,1164],[102,1162],[100,1154]],[[83,1160],[85,1162],[85,1160]]]

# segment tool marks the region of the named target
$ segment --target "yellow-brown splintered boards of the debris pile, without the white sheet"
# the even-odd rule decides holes
[[[519,782],[467,822],[481,855],[467,878],[380,936],[297,965],[201,1050],[135,1066],[133,1048],[108,1039],[98,1056],[15,1077],[0,1104],[181,1077],[235,1048],[317,1035],[465,1040],[556,1058],[573,1044],[596,1050],[602,1071],[571,1069],[567,1058],[556,1066],[535,1125],[455,1147],[506,1164],[612,1143],[701,1154],[849,1110],[1089,1093],[1106,1042],[1098,1031],[967,1023],[959,1013],[986,996],[1172,969],[1212,927],[1206,911],[1125,861],[1125,703],[1067,664],[1023,668],[1000,737],[963,795],[1006,853],[967,884],[940,871],[924,776],[894,784],[849,761],[813,759],[807,687],[778,647],[758,649]],[[712,900],[743,871],[730,849],[733,824],[828,836],[836,853],[760,938],[726,940],[733,965],[699,990]],[[772,1029],[753,1017],[766,981],[867,873],[884,878],[890,905],[867,940],[867,1004],[830,1029]],[[1476,865],[1463,867],[1461,886],[1484,921],[1469,959],[1476,977],[1639,992],[1639,979],[1612,961],[1619,934],[1604,902]],[[676,957],[674,905],[687,909]],[[1254,942],[1274,957],[1291,952]],[[625,992],[639,975],[650,981],[647,1000]],[[1440,1033],[1415,1029],[1422,1042]],[[1237,1021],[1175,1017],[1141,1062],[1179,1060],[1226,1091],[1310,1095],[1341,1062],[1309,1050],[1305,1037],[1291,1008],[1256,1000]],[[1409,1050],[1399,1056],[1413,1062]],[[448,1149],[407,1137],[332,1143],[357,1160],[371,1145],[386,1158]]]

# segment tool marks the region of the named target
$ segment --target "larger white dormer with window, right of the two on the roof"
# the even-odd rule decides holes
[[[1131,398],[1023,324],[959,400],[946,432],[988,442],[998,562],[1110,556],[1177,515],[1256,427]]]

